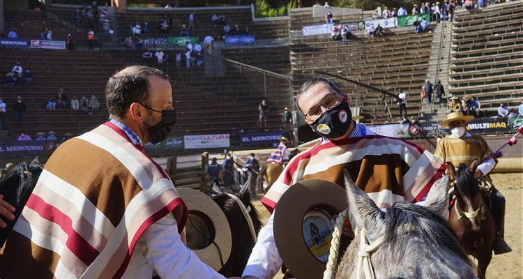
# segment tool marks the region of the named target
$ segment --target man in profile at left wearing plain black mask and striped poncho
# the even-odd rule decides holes
[[[105,99],[111,120],[47,160],[1,251],[0,277],[224,278],[185,246],[187,207],[142,148],[176,122],[167,75],[130,66],[109,79]]]

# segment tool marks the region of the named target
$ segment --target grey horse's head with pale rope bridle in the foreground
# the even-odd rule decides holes
[[[346,173],[349,211],[353,227],[360,230],[335,278],[477,278],[471,259],[441,216],[448,205],[449,181],[445,176],[434,183],[425,206],[396,202],[384,212]]]

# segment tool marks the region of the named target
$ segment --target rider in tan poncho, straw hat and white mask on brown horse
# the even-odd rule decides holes
[[[465,163],[467,167],[473,160],[485,160],[492,154],[492,149],[488,146],[483,137],[472,135],[467,131],[467,123],[474,116],[463,115],[462,112],[452,112],[447,115],[445,121],[441,121],[439,126],[450,128],[450,135],[439,140],[434,155],[457,166]],[[497,164],[496,158],[490,158],[480,163],[474,174],[476,178],[487,176]],[[490,179],[489,179],[490,180]],[[496,255],[512,251],[503,239],[503,226],[505,220],[505,197],[492,186],[492,215],[496,222],[497,243],[494,245]]]

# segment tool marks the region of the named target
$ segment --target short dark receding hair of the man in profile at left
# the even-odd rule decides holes
[[[107,110],[113,117],[122,118],[132,103],[149,104],[150,75],[169,79],[162,70],[147,66],[130,66],[109,78],[105,86]]]

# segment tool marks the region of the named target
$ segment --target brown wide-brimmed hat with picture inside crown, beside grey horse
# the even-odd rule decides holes
[[[303,180],[285,191],[277,207],[274,240],[285,266],[296,278],[322,278],[331,248],[331,219],[349,207],[344,188],[323,179]]]

